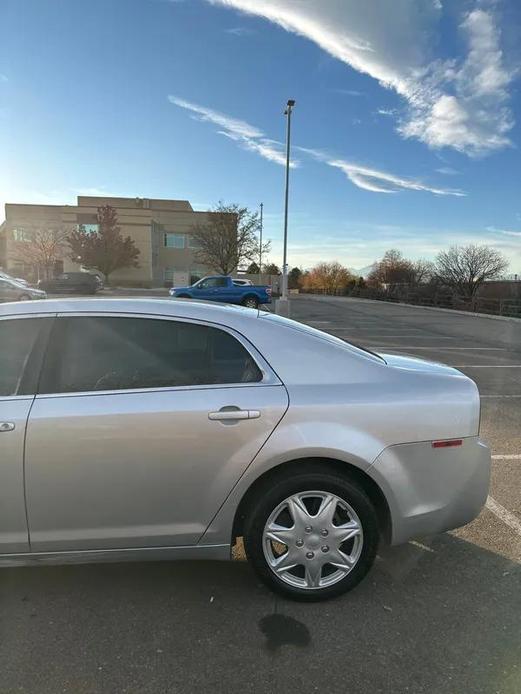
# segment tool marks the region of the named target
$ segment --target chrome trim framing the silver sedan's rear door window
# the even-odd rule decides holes
[[[134,313],[134,312],[124,312],[124,311],[71,311],[63,312],[60,311],[56,316],[56,321],[54,321],[52,330],[47,340],[46,353],[42,359],[42,364],[40,368],[40,377],[38,379],[38,389],[36,392],[36,398],[42,400],[44,398],[74,398],[74,397],[97,397],[100,395],[126,395],[126,394],[139,394],[139,393],[161,393],[170,391],[193,391],[193,390],[209,390],[209,389],[225,389],[225,388],[251,388],[252,386],[264,387],[264,386],[282,386],[283,383],[277,374],[273,371],[268,362],[260,354],[260,352],[254,347],[254,345],[247,340],[241,333],[230,328],[227,325],[222,325],[221,323],[213,323],[212,321],[198,320],[194,318],[185,318],[181,316],[172,316],[165,314],[155,314],[155,313]],[[123,389],[112,389],[112,390],[84,390],[76,391],[72,393],[40,393],[39,384],[41,382],[42,374],[48,363],[48,355],[53,353],[53,341],[56,334],[55,329],[58,324],[58,319],[60,318],[139,318],[144,320],[166,320],[175,323],[190,323],[192,325],[202,325],[209,328],[217,328],[228,333],[231,337],[234,337],[242,347],[248,352],[250,357],[253,359],[257,368],[262,374],[260,381],[251,381],[248,383],[209,383],[209,384],[198,384],[198,385],[188,385],[188,386],[158,386],[150,388],[123,388]],[[51,348],[51,349],[49,349]],[[32,396],[31,396],[32,397]]]

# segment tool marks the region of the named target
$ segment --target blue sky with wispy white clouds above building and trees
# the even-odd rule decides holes
[[[0,202],[265,210],[280,263],[488,243],[521,272],[515,0],[2,0]]]

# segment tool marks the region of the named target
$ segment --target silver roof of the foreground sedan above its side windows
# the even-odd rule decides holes
[[[194,318],[230,326],[243,323],[244,320],[256,319],[259,315],[258,310],[244,306],[166,297],[164,299],[152,297],[58,298],[38,302],[0,304],[0,317],[49,313],[146,313]]]

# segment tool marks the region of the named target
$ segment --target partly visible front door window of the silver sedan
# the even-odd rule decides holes
[[[18,394],[41,325],[39,318],[0,320],[0,397]]]

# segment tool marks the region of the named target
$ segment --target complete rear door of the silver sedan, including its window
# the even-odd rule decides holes
[[[26,440],[35,551],[195,544],[288,406],[244,338],[60,316]]]

